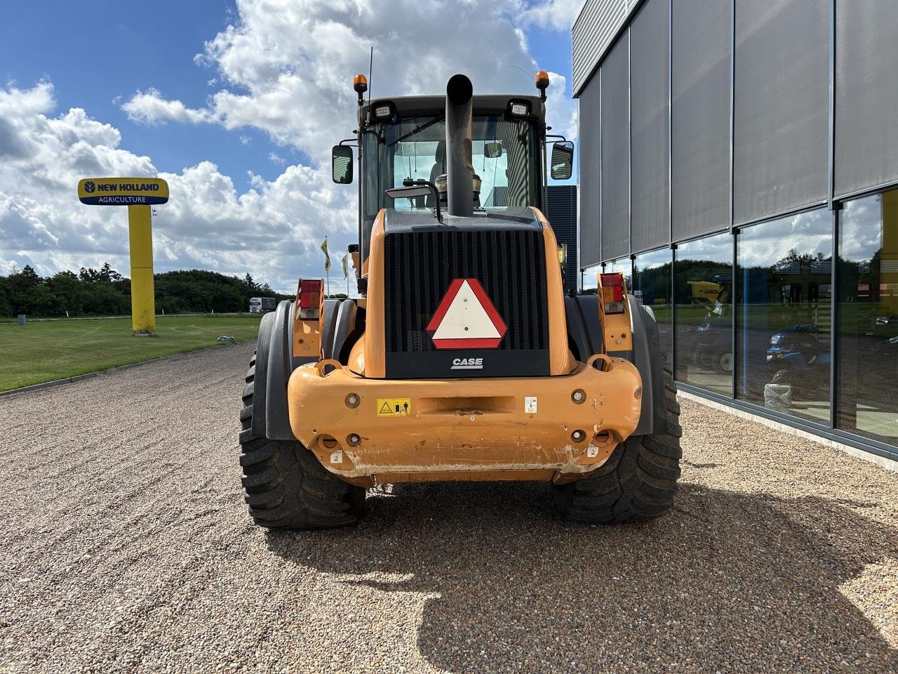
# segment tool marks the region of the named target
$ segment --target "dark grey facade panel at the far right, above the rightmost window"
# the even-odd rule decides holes
[[[898,12],[885,0],[836,3],[835,191],[898,180]]]

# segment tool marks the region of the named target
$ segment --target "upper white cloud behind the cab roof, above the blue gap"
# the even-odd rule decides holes
[[[372,45],[375,96],[439,92],[456,72],[469,75],[478,93],[533,93],[538,67],[518,24],[554,27],[561,4],[525,8],[515,0],[480,0],[450,10],[406,1],[384,12],[372,3],[239,0],[240,21],[208,40],[197,57],[217,69],[223,87],[206,108],[189,109],[148,90],[123,109],[148,124],[255,127],[323,161],[334,140],[354,129],[351,77],[367,74]],[[435,21],[450,11],[451,21]],[[550,124],[571,135],[575,104],[564,97],[565,78],[552,75]]]

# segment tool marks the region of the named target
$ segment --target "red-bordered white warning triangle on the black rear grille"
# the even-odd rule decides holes
[[[506,330],[478,279],[454,279],[427,324],[437,349],[495,349]]]

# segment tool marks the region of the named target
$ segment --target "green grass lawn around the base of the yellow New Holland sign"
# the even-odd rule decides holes
[[[0,391],[216,346],[223,334],[253,339],[260,320],[260,315],[157,317],[154,337],[132,337],[130,318],[0,324]]]

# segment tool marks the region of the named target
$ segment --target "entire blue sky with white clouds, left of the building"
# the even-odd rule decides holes
[[[375,96],[439,93],[456,72],[475,93],[535,93],[533,75],[547,70],[549,124],[576,140],[580,4],[11,4],[0,22],[0,274],[110,262],[128,275],[127,210],[84,206],[75,186],[158,176],[171,199],[153,220],[157,272],[249,272],[294,292],[299,277],[323,275],[325,235],[337,258],[357,238],[356,187],[331,182],[330,146],[356,128],[352,76],[367,74],[371,47]]]

